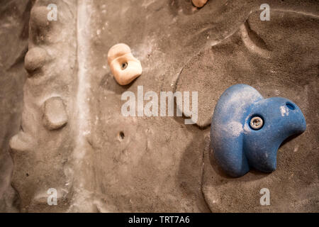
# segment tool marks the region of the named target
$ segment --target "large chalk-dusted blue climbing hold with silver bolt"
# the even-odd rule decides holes
[[[247,84],[229,87],[220,96],[211,122],[211,148],[218,165],[232,177],[250,167],[276,170],[279,145],[306,131],[306,120],[289,99],[264,99]]]

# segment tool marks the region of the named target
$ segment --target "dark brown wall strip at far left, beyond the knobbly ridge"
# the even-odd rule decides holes
[[[18,211],[18,196],[10,185],[13,163],[9,139],[20,128],[23,58],[28,50],[29,1],[0,1],[0,211]]]

